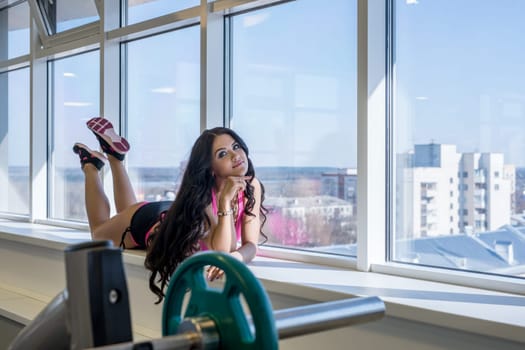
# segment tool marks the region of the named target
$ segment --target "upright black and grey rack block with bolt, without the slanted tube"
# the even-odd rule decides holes
[[[133,339],[122,253],[110,241],[65,250],[71,350]]]

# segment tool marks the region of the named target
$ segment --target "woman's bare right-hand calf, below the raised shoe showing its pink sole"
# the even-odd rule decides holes
[[[137,203],[137,197],[135,196],[133,186],[131,186],[131,181],[129,180],[129,175],[124,167],[124,163],[110,154],[108,154],[107,157],[113,177],[115,208],[117,213],[121,213],[124,209]]]

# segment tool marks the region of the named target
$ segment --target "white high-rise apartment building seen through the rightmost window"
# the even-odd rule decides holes
[[[501,153],[415,145],[398,157],[396,169],[397,239],[471,234],[510,224],[515,170]]]

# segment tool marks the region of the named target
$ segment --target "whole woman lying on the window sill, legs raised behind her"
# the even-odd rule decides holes
[[[137,203],[122,164],[129,144],[106,119],[93,118],[87,125],[107,155],[78,143],[74,147],[86,175],[92,236],[126,248],[147,248],[145,266],[151,271],[149,285],[157,303],[177,266],[199,250],[228,252],[244,262],[255,257],[259,235],[265,237],[261,231],[266,221],[264,187],[255,177],[248,147],[233,130],[217,127],[199,136],[174,202]],[[98,176],[106,159],[117,208],[111,218]],[[208,271],[210,280],[221,275],[214,267]]]

